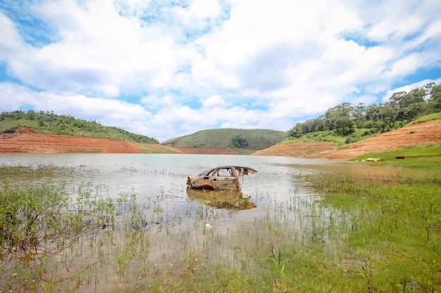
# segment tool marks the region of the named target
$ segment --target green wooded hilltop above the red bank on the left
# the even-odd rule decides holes
[[[13,134],[20,126],[30,127],[37,134],[111,138],[132,143],[159,144],[155,138],[132,134],[114,126],[103,126],[95,121],[75,119],[70,115],[56,115],[54,112],[33,110],[0,113],[0,134]]]

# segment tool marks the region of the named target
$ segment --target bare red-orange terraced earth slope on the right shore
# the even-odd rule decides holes
[[[338,148],[333,143],[290,143],[273,145],[253,155],[278,155],[317,159],[352,159],[368,152],[397,150],[409,145],[425,145],[441,141],[441,119],[412,124],[402,129],[357,141]]]

